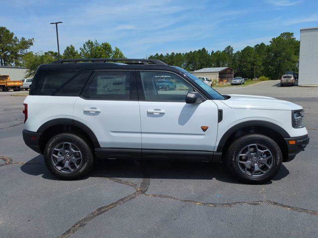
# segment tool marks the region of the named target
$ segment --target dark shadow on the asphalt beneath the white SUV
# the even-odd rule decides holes
[[[32,166],[30,166],[32,165]],[[21,171],[28,175],[39,176],[43,179],[59,180],[46,168],[43,156],[39,155],[23,164]],[[273,180],[285,178],[289,171],[282,165]],[[192,162],[192,161],[134,161],[134,160],[99,160],[89,177],[101,178],[150,178],[150,179],[204,179],[244,184],[231,176],[223,163]],[[267,182],[270,184],[272,181]]]

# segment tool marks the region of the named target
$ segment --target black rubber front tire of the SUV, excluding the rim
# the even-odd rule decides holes
[[[266,146],[272,153],[273,155],[273,166],[270,169],[270,171],[264,175],[263,177],[258,177],[258,178],[253,178],[249,177],[239,169],[238,166],[238,154],[243,149],[245,146],[249,144],[261,144]],[[248,136],[243,136],[239,139],[237,139],[231,146],[229,153],[227,155],[227,165],[232,173],[237,175],[240,180],[243,180],[244,182],[265,182],[270,179],[272,179],[279,171],[279,168],[282,165],[282,153],[277,145],[277,143],[270,139],[267,136],[264,135],[248,135]]]

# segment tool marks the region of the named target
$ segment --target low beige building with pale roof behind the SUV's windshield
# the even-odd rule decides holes
[[[231,67],[201,68],[191,73],[197,77],[207,77],[217,82],[231,82],[234,75],[233,68]]]

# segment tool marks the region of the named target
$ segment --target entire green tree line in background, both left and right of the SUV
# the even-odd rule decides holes
[[[120,49],[107,42],[96,40],[86,41],[78,50],[73,45],[67,46],[61,56],[57,52],[28,51],[33,46],[34,39],[20,39],[5,27],[0,27],[0,65],[27,67],[27,77],[33,76],[37,67],[58,59],[78,58],[125,58]],[[254,47],[246,46],[241,51],[234,52],[228,46],[223,51],[209,52],[205,48],[187,53],[156,54],[149,59],[158,59],[169,65],[194,71],[205,67],[229,66],[234,69],[235,76],[253,78],[264,75],[271,79],[279,79],[286,71],[298,69],[300,42],[294,33],[284,32],[273,38],[270,43],[260,43]]]

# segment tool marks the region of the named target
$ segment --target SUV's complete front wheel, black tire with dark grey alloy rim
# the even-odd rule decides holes
[[[245,183],[259,184],[271,180],[278,173],[283,155],[277,143],[270,137],[248,134],[230,145],[225,159],[230,172],[237,179]]]

